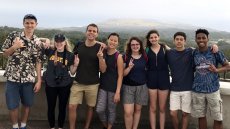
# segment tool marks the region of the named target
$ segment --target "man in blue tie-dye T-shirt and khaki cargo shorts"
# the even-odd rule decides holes
[[[214,119],[214,129],[222,129],[222,100],[219,92],[218,73],[230,70],[230,64],[222,52],[213,54],[208,47],[209,32],[196,31],[198,49],[193,52],[195,77],[192,87],[192,116],[199,119],[199,129],[207,129],[206,112]],[[218,64],[222,67],[218,68]]]

